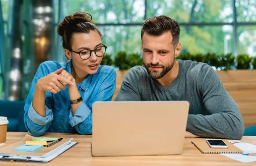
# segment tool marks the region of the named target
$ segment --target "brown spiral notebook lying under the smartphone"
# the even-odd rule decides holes
[[[228,140],[223,140],[228,148],[210,148],[206,142],[206,139],[193,140],[192,144],[202,153],[202,154],[242,154],[243,151]]]

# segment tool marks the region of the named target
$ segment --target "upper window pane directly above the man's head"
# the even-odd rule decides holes
[[[167,15],[178,22],[232,22],[233,0],[147,0],[147,17]]]

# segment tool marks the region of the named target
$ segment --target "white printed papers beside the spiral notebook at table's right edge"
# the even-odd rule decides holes
[[[234,146],[238,147],[242,151],[244,151],[244,154],[221,154],[223,156],[226,156],[230,159],[234,159],[239,162],[243,163],[252,163],[256,162],[256,156],[254,154],[256,153],[256,145],[249,144],[246,142],[241,142],[238,140],[229,140],[230,143],[232,143]],[[250,156],[250,154],[252,156]]]

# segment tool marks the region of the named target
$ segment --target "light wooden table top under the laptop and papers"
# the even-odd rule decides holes
[[[7,132],[4,146],[21,140],[25,135],[26,132]],[[92,157],[91,135],[46,133],[44,136],[73,137],[78,144],[46,164],[0,162],[0,166],[256,166],[256,162],[241,163],[222,155],[203,155],[192,145],[192,139],[185,139],[183,154],[178,156]],[[242,141],[256,145],[254,136],[245,136]]]

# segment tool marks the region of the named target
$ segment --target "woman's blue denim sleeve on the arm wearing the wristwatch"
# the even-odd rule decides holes
[[[88,104],[81,103],[75,113],[69,111],[69,124],[74,127],[79,134],[92,134],[92,104],[97,101],[111,101],[116,89],[116,71],[113,69],[106,79],[99,86],[96,95]]]

